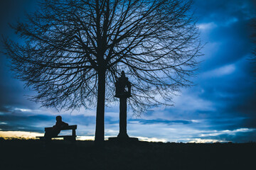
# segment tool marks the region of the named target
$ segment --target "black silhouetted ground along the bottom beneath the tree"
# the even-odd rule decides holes
[[[0,138],[0,169],[256,169],[256,143],[183,144]]]

